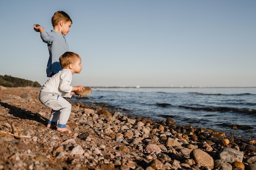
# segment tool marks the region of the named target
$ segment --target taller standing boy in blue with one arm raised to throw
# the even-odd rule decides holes
[[[62,69],[59,57],[66,51],[69,51],[65,35],[70,31],[71,24],[70,16],[63,11],[57,11],[52,16],[52,26],[54,29],[49,33],[45,32],[43,26],[34,24],[34,30],[40,32],[40,36],[43,42],[47,43],[49,50],[49,60],[46,68],[47,77],[52,77],[52,75]]]

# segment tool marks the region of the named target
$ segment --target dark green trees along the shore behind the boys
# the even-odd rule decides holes
[[[11,77],[10,75],[0,75],[0,86],[4,87],[42,87],[38,82],[32,82],[26,79]]]

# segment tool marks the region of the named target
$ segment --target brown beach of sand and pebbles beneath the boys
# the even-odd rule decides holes
[[[38,88],[0,88],[2,170],[256,170],[256,139],[71,102],[72,133],[46,128]]]

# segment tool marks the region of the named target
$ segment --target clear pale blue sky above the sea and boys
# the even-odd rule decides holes
[[[256,86],[256,0],[1,0],[0,75],[45,83],[33,24],[50,32],[56,11],[82,58],[74,86]]]

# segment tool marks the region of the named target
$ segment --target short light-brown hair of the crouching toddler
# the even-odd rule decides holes
[[[60,57],[61,67],[66,68],[70,64],[75,64],[78,59],[81,59],[80,55],[73,52],[65,52]]]

